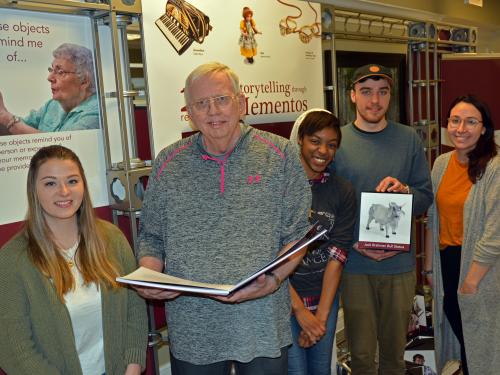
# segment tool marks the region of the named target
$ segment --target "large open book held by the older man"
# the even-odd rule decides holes
[[[245,279],[241,280],[239,283],[235,285],[208,284],[197,281],[185,280],[161,272],[156,272],[144,267],[139,267],[137,270],[126,276],[117,277],[116,280],[124,284],[169,289],[180,292],[227,296],[231,293],[234,293],[238,289],[243,288],[244,286],[250,284],[253,280],[258,278],[263,273],[272,270],[280,263],[290,258],[293,254],[300,251],[301,249],[309,245],[311,242],[314,242],[315,240],[320,238],[326,232],[327,230],[323,229],[320,224],[313,225],[311,229],[309,229],[309,231],[306,233],[306,235],[302,237],[297,243],[295,243],[295,245],[293,245],[290,249],[285,251],[283,254],[278,255],[276,258],[274,258],[272,261],[264,265],[262,268],[260,268],[259,270],[257,270],[256,272],[246,277]]]

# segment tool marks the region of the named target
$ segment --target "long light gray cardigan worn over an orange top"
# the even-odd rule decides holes
[[[436,194],[452,152],[439,156],[432,168]],[[464,205],[464,238],[460,284],[470,264],[476,261],[490,270],[473,295],[458,295],[469,373],[497,374],[500,368],[500,157],[488,164],[484,176],[474,185]],[[439,215],[435,202],[429,209],[434,237],[434,334],[436,360],[441,369],[446,361],[460,358],[460,345],[443,312],[443,283],[439,257]]]

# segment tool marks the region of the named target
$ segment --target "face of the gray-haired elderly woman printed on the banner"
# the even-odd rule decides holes
[[[49,72],[47,79],[50,82],[52,99],[59,101],[66,111],[73,109],[87,97],[88,84],[82,83],[76,74],[75,65],[68,59],[54,59],[52,72]]]

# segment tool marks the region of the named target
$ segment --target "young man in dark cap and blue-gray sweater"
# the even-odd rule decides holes
[[[362,191],[411,193],[413,215],[420,215],[432,202],[429,167],[415,131],[386,118],[392,83],[391,71],[380,65],[365,65],[354,72],[351,100],[356,119],[342,128],[343,145],[335,169],[354,185],[358,207]],[[359,220],[355,238],[358,227]],[[342,277],[354,375],[404,373],[414,289],[414,246],[410,252],[396,252],[363,250],[354,244]]]

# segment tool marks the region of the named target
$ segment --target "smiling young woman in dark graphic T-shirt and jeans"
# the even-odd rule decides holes
[[[338,119],[328,111],[302,114],[292,129],[300,160],[312,190],[311,223],[328,233],[308,247],[290,276],[293,344],[288,350],[288,374],[329,375],[337,314],[339,283],[356,220],[354,188],[327,170],[340,146]]]

